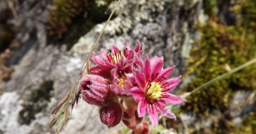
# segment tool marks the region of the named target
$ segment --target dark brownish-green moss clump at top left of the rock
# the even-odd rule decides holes
[[[49,35],[71,48],[94,24],[107,20],[107,7],[113,1],[104,0],[105,5],[98,5],[99,0],[55,0],[48,16]]]

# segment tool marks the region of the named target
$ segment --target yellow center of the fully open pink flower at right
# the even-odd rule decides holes
[[[162,88],[161,88],[161,84],[159,84],[159,82],[151,82],[150,85],[147,87],[147,98],[154,100],[157,99],[159,97],[162,97]]]

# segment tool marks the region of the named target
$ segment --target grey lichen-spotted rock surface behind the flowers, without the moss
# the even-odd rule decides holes
[[[17,7],[18,21],[10,20],[17,29],[21,47],[7,62],[15,71],[0,97],[0,133],[47,133],[50,112],[70,89],[104,24],[95,26],[71,51],[66,51],[65,45],[47,43],[49,3],[24,1]],[[189,29],[201,8],[200,1],[123,0],[95,52],[110,49],[112,44],[122,48],[128,42],[134,46],[139,39],[150,56],[163,55],[165,66],[177,65],[174,76],[179,76],[185,71],[190,39],[197,38],[196,32]],[[122,126],[108,129],[98,116],[97,107],[81,101],[69,116],[63,133],[110,133]]]

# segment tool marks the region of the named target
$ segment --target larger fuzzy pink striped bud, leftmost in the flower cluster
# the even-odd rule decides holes
[[[109,98],[109,80],[97,76],[86,74],[81,80],[81,97],[92,105],[104,106]]]

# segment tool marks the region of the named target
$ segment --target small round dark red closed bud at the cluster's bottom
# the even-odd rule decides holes
[[[108,128],[119,124],[122,119],[122,107],[118,103],[111,103],[100,108],[100,120]]]

